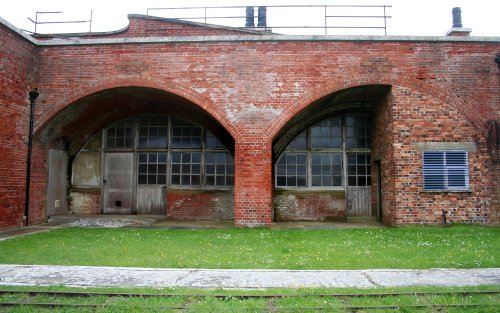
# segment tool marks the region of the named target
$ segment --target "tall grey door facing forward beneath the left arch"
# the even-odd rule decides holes
[[[104,157],[103,212],[131,214],[134,193],[134,154],[106,153]]]

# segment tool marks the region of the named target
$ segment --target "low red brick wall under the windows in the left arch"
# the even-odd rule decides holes
[[[234,218],[232,191],[169,189],[167,217],[177,220],[230,220]]]

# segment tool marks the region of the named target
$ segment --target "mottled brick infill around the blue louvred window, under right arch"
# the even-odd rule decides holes
[[[451,222],[489,222],[493,196],[489,182],[493,177],[484,136],[440,100],[402,87],[393,87],[392,95],[394,223],[440,223],[443,210],[449,212]],[[470,192],[423,191],[418,142],[473,143],[476,151],[469,152]]]

